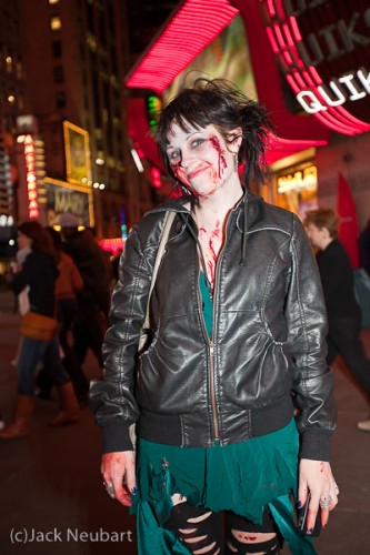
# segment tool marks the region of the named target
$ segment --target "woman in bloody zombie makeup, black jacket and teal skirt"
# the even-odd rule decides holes
[[[182,90],[159,121],[182,194],[130,233],[90,393],[106,487],[137,514],[140,554],[272,554],[283,539],[316,553],[317,515],[326,525],[338,503],[317,265],[300,220],[250,189],[271,131],[266,110],[220,80]],[[166,212],[176,218],[139,351]],[[309,503],[307,535],[294,503]]]

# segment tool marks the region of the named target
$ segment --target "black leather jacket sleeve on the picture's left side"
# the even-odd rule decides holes
[[[156,243],[154,243],[156,244]],[[134,400],[136,361],[147,306],[154,248],[142,249],[130,233],[119,265],[102,353],[104,379],[90,389],[90,407],[102,427],[103,453],[131,451],[129,426],[139,418]]]

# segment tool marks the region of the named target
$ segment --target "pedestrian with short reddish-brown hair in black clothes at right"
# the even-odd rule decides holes
[[[317,262],[328,311],[327,362],[341,355],[370,400],[370,360],[361,340],[361,310],[354,297],[353,270],[349,255],[338,239],[339,218],[334,210],[319,208],[306,214],[306,228],[318,249]],[[358,428],[370,432],[370,420]]]

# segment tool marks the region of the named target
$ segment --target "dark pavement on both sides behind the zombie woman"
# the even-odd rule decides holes
[[[11,295],[0,293],[0,410],[8,421],[16,394],[11,361],[19,324],[12,307]],[[363,337],[370,354],[370,331]],[[368,416],[368,410],[343,363],[333,370],[339,427],[332,467],[340,504],[316,547],[319,555],[362,555],[370,553],[370,434],[358,432],[356,423]],[[89,379],[100,375],[92,355],[84,371]],[[47,422],[57,411],[57,398],[38,400],[30,437],[0,442],[0,552],[134,555],[134,519],[104,491],[99,430],[89,408],[81,411],[79,424],[50,428]]]

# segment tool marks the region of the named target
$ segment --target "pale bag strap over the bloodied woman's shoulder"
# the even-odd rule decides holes
[[[158,245],[158,251],[157,251],[157,255],[156,255],[156,262],[154,262],[153,271],[151,274],[150,287],[149,287],[149,294],[148,294],[148,301],[147,301],[146,317],[144,317],[143,324],[141,326],[141,330],[140,330],[139,349],[138,349],[139,353],[144,350],[147,341],[148,341],[148,331],[150,329],[150,316],[149,316],[150,297],[151,297],[151,293],[153,291],[153,286],[154,286],[156,280],[157,280],[158,270],[159,270],[160,263],[162,261],[162,258],[163,258],[163,254],[166,251],[168,236],[170,234],[170,229],[171,229],[172,222],[174,220],[174,216],[176,216],[176,212],[169,212],[169,211],[167,211],[166,215],[164,215],[163,228],[162,228],[162,232],[161,232],[161,236],[160,236],[160,241],[159,241],[159,245]],[[133,448],[136,448],[136,443],[137,443],[136,424],[130,425],[129,435],[130,435],[132,446],[133,446]]]

